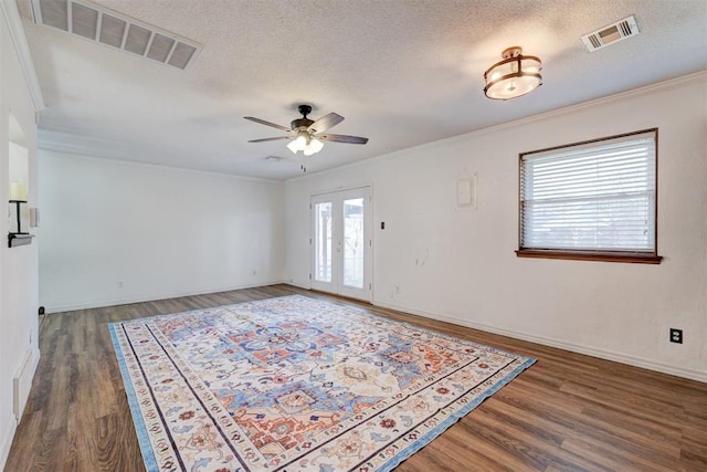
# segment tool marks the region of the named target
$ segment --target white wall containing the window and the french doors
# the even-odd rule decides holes
[[[309,196],[372,182],[374,304],[707,381],[706,76],[291,180],[285,280],[309,284]],[[519,153],[652,127],[662,264],[516,258]],[[456,210],[474,172],[478,207]]]

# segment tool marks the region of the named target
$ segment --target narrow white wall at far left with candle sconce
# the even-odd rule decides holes
[[[21,27],[14,2],[0,6],[0,201],[6,217],[0,218],[0,469],[4,465],[18,418],[13,412],[13,378],[25,355],[31,369],[39,360],[38,348],[38,241],[31,245],[8,248],[10,144],[27,149],[29,202],[36,203],[36,125],[34,103],[15,49]],[[14,13],[8,17],[8,13]],[[14,30],[10,29],[14,21]],[[11,34],[13,31],[13,34]],[[29,72],[33,73],[33,71]],[[12,118],[11,118],[12,116]],[[24,396],[25,397],[25,396]],[[24,398],[25,399],[25,398]]]

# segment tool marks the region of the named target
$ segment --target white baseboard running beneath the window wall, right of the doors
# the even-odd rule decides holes
[[[557,347],[559,349],[569,350],[572,353],[584,354],[587,356],[598,357],[600,359],[613,360],[615,363],[626,364],[629,366],[641,367],[648,370],[658,371],[662,374],[669,374],[676,377],[683,377],[690,380],[697,380],[707,384],[707,371],[697,369],[687,369],[683,367],[676,367],[668,364],[657,363],[651,359],[643,359],[640,357],[631,356],[623,353],[616,353],[613,350],[598,349],[591,346],[584,346],[574,343],[567,343],[564,340],[549,338],[545,336],[537,336],[528,333],[517,332],[513,329],[504,329],[495,326],[489,326],[481,323],[468,322],[454,316],[443,315],[440,313],[425,312],[421,310],[409,308],[407,306],[395,305],[392,303],[383,302],[380,300],[373,300],[373,305],[383,308],[395,310],[398,312],[410,313],[412,315],[424,316],[425,318],[432,318],[440,322],[447,322],[460,326],[466,326],[473,329],[479,329],[487,333],[494,333],[502,336],[513,337],[515,339],[527,340],[530,343],[541,344],[544,346]]]

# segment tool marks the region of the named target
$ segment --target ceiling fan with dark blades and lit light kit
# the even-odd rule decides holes
[[[251,122],[260,123],[261,125],[271,126],[273,128],[289,133],[289,135],[286,136],[251,139],[249,140],[249,143],[265,143],[272,140],[288,139],[289,143],[287,144],[287,148],[294,154],[302,151],[302,154],[304,154],[305,156],[312,156],[313,154],[317,154],[321,149],[324,149],[323,141],[325,140],[347,144],[368,143],[368,138],[363,138],[360,136],[324,134],[327,129],[338,125],[344,120],[344,117],[341,115],[329,113],[328,115],[325,115],[315,122],[307,118],[307,115],[312,113],[312,106],[299,105],[297,109],[302,114],[302,118],[293,119],[289,124],[289,128],[286,126],[277,125],[275,123],[266,122],[261,118],[255,118],[253,116],[244,116],[245,119],[250,119]]]

